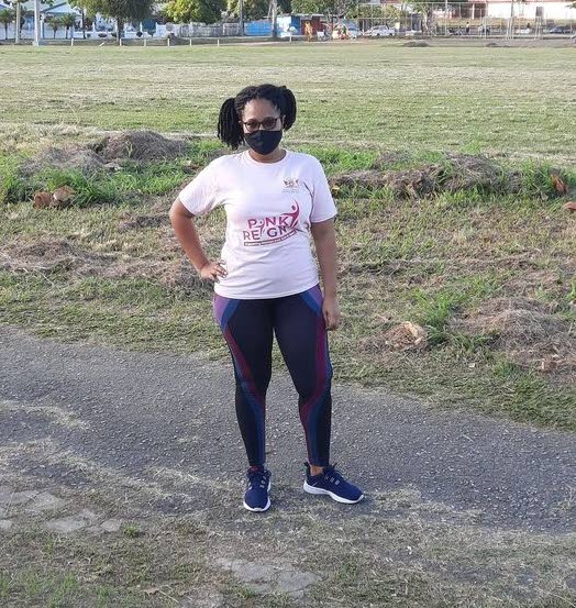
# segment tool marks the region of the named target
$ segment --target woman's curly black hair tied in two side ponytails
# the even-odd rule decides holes
[[[240,120],[244,106],[253,99],[267,99],[284,117],[284,129],[288,130],[296,121],[296,98],[290,89],[275,85],[258,85],[242,89],[236,97],[222,103],[218,119],[218,137],[233,150],[244,142],[244,130]]]

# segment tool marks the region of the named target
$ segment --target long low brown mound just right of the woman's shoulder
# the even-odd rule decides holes
[[[442,163],[385,170],[399,161],[399,155],[384,155],[374,163],[372,169],[333,176],[331,185],[336,189],[354,186],[370,189],[387,187],[399,198],[427,197],[473,188],[491,192],[518,192],[522,185],[521,175],[507,173],[496,162],[483,156],[448,154]]]

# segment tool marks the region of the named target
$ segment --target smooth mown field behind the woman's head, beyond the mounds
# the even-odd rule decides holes
[[[288,141],[569,162],[576,132],[573,55],[571,48],[384,43],[2,47],[1,119],[43,124],[55,134],[70,125],[212,134],[226,97],[247,82],[272,80],[291,87],[300,102]]]

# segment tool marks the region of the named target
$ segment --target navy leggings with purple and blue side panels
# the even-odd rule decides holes
[[[264,466],[266,460],[266,390],[274,334],[299,395],[308,460],[312,465],[326,466],[332,365],[320,288],[266,300],[215,295],[213,310],[234,363],[236,416],[251,466]]]

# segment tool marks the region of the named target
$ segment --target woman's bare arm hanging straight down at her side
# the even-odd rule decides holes
[[[336,297],[337,262],[336,262],[336,231],[334,220],[312,223],[310,231],[314,239],[315,252],[320,264],[320,274],[324,287],[324,303],[322,311],[328,330],[335,330],[340,325],[340,307]]]

